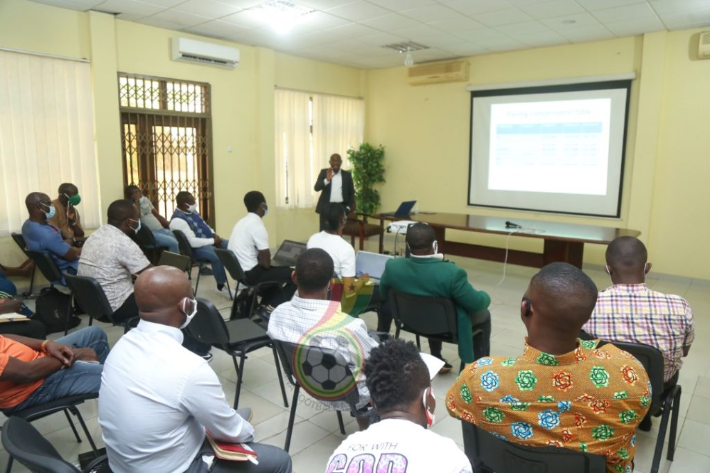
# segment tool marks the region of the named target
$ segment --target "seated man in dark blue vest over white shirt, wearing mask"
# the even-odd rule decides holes
[[[187,243],[192,247],[192,258],[194,260],[206,260],[212,265],[212,273],[214,280],[217,282],[217,292],[223,296],[229,296],[226,284],[226,273],[224,266],[219,261],[214,248],[226,248],[229,241],[219,238],[217,233],[207,225],[207,222],[202,220],[202,217],[197,213],[197,201],[195,196],[190,192],[178,192],[175,196],[175,208],[173,216],[170,217],[170,230],[180,230],[185,233]]]

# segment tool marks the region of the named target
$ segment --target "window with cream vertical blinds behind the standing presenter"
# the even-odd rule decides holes
[[[275,90],[276,199],[280,208],[315,207],[313,184],[330,155],[357,148],[365,129],[365,104],[352,97]]]

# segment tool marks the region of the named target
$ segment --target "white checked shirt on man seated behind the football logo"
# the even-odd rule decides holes
[[[360,394],[357,407],[362,408],[370,402],[362,367],[370,350],[378,343],[368,335],[365,322],[342,312],[338,302],[293,296],[271,313],[267,333],[274,340],[300,345],[314,345],[317,341],[315,346],[338,350],[357,379]],[[311,338],[310,335],[315,336]],[[339,411],[350,411],[345,401],[322,404]]]

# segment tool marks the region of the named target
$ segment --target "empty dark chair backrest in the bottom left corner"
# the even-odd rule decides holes
[[[78,473],[77,467],[65,462],[47,439],[23,418],[11,416],[2,427],[5,450],[31,472]]]

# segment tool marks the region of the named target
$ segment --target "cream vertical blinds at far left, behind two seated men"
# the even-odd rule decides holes
[[[84,228],[100,221],[90,66],[0,51],[0,235],[27,219],[25,197],[79,188]]]

